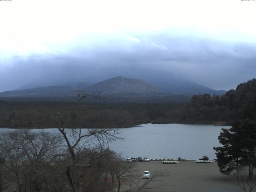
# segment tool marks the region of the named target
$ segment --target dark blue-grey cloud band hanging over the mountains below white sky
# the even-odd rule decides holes
[[[0,66],[0,91],[27,83],[93,84],[114,76],[157,79],[161,73],[166,78],[183,76],[204,86],[228,90],[255,77],[255,61],[256,45],[249,43],[168,34],[110,38],[90,46],[79,43],[70,47],[68,54],[30,55],[2,61],[9,64]]]

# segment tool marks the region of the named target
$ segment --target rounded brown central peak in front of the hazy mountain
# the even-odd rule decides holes
[[[102,94],[157,94],[162,93],[154,86],[138,79],[114,77],[87,88],[90,92]]]

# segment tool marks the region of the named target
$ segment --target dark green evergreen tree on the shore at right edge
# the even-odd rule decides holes
[[[214,147],[220,172],[230,174],[248,166],[248,176],[252,177],[256,167],[256,100],[249,102],[241,120],[234,122],[230,129],[222,128],[218,137],[222,147]]]

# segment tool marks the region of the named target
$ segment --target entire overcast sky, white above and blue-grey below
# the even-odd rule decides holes
[[[255,78],[255,10],[252,0],[0,1],[0,92],[145,70],[229,90]]]

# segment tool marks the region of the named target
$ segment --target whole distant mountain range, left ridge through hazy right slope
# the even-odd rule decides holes
[[[136,75],[136,73],[134,73]],[[26,84],[19,88],[18,90],[6,91],[0,93],[0,97],[66,97],[66,96],[76,96],[74,90],[77,89],[86,89],[89,92],[99,92],[103,95],[122,95],[126,97],[128,95],[162,95],[170,96],[173,94],[222,94],[225,91],[216,91],[214,89],[201,86],[194,82],[190,82],[186,79],[177,78],[177,77],[168,77],[162,75],[162,78],[154,78],[152,75],[144,76],[144,79],[149,80],[152,84],[144,82],[139,79],[124,78],[117,76],[110,78],[101,82],[98,82],[94,85],[89,86],[85,82],[69,82],[62,85],[54,86],[42,86],[42,84],[36,84],[33,82],[31,84]],[[165,80],[165,81],[164,81]],[[44,82],[45,84],[46,82]],[[56,82],[60,83],[60,82]],[[35,88],[31,88],[35,87]],[[132,99],[136,99],[133,97]],[[142,100],[142,98],[140,98]],[[147,98],[148,99],[148,98]],[[150,98],[152,99],[152,98]],[[159,98],[158,98],[159,99]],[[118,99],[119,100],[119,99]]]

